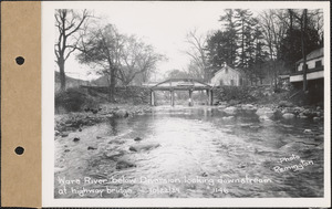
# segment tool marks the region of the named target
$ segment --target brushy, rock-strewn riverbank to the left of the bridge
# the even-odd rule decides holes
[[[55,94],[55,136],[65,137],[114,118],[131,117],[151,111],[148,92],[141,88],[118,88],[115,103],[110,103],[107,91],[75,87]]]

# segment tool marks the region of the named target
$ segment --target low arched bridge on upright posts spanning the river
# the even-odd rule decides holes
[[[194,79],[169,79],[164,82],[157,83],[151,86],[151,105],[155,106],[155,92],[156,91],[169,91],[170,93],[170,105],[174,106],[174,92],[175,91],[188,91],[189,92],[189,106],[193,105],[193,92],[194,91],[206,91],[209,105],[214,104],[212,87],[198,80]]]

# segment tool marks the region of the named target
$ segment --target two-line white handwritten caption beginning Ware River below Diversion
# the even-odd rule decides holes
[[[104,197],[106,194],[122,194],[123,196],[129,196],[134,192],[132,188],[124,188],[124,185],[147,185],[147,190],[139,190],[139,192],[147,194],[179,194],[181,192],[180,184],[186,185],[205,185],[214,194],[228,194],[227,185],[230,184],[269,184],[272,182],[270,178],[251,178],[246,175],[242,178],[206,178],[206,177],[184,177],[184,178],[148,178],[137,177],[127,178],[110,177],[104,179],[94,179],[91,177],[83,177],[76,179],[68,179],[65,177],[58,177],[58,184],[60,187],[56,189],[58,195],[79,195],[80,197],[86,197],[90,195]],[[121,186],[120,186],[121,185]]]

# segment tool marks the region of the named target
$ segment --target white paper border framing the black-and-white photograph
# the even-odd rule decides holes
[[[246,9],[314,9],[324,11],[324,198],[139,198],[54,199],[54,10],[97,9],[128,1],[42,1],[42,207],[330,207],[330,2],[329,1],[181,1],[201,7]],[[154,1],[154,3],[178,3]]]

